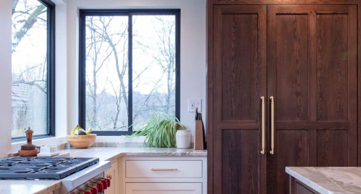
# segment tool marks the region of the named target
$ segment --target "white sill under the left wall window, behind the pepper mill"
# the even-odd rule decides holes
[[[46,138],[32,140],[32,144],[36,146],[59,145],[63,143],[66,143],[66,137],[46,137]],[[17,152],[17,150],[19,150],[21,145],[23,144],[26,144],[26,140],[12,142],[10,153]]]

